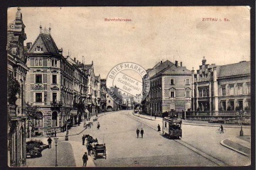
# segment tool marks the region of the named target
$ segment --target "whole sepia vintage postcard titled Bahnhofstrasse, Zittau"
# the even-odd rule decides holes
[[[250,12],[8,8],[8,166],[250,166]]]

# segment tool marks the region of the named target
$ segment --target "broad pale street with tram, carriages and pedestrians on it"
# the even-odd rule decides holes
[[[99,130],[97,130],[97,122],[101,125]],[[237,136],[239,128],[224,126],[227,132],[219,134],[215,132],[218,128],[215,126],[183,123],[181,140],[169,140],[162,136],[161,132],[157,132],[156,127],[158,124],[161,125],[161,118],[156,120],[140,118],[133,115],[131,110],[102,113],[97,122],[93,123],[92,128],[84,131],[82,125],[72,128],[70,134],[72,132],[78,135],[70,135],[67,142],[64,137],[59,137],[60,143],[65,144],[66,150],[70,151],[68,144],[72,145],[68,153],[70,157],[67,157],[66,152],[61,152],[63,147],[58,147],[60,151],[58,159],[64,157],[69,160],[65,164],[60,163],[59,166],[66,164],[82,166],[82,154],[87,151],[86,147],[82,146],[82,135],[87,134],[94,139],[97,138],[99,144],[105,143],[107,147],[107,159],[102,157],[94,159],[93,156],[89,156],[90,163],[88,162],[87,166],[245,166],[250,164],[249,157],[220,145],[221,140]],[[141,135],[137,138],[137,128],[144,129],[143,138]],[[250,128],[245,128],[244,134],[250,135]],[[72,154],[75,163],[72,161]],[[45,159],[49,159],[47,155],[43,153]],[[29,159],[28,162],[30,164],[33,162],[33,166],[41,166],[38,162],[35,163],[35,160]],[[54,159],[51,165],[54,166]]]

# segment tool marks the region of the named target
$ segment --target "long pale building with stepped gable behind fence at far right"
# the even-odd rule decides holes
[[[250,112],[250,62],[202,65],[193,74],[193,111],[197,114],[232,115]]]

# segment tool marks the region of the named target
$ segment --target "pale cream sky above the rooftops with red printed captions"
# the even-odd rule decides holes
[[[8,23],[16,11],[8,9]],[[93,60],[95,74],[102,79],[122,62],[149,69],[161,60],[177,60],[196,70],[203,57],[216,65],[250,61],[248,6],[21,7],[21,13],[25,45],[35,42],[40,25],[50,26],[63,55],[69,52],[80,62],[84,56],[85,64]]]

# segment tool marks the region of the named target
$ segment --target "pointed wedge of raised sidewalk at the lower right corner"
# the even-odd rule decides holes
[[[220,141],[220,145],[228,147],[247,157],[251,155],[251,136],[229,137],[228,139]]]

